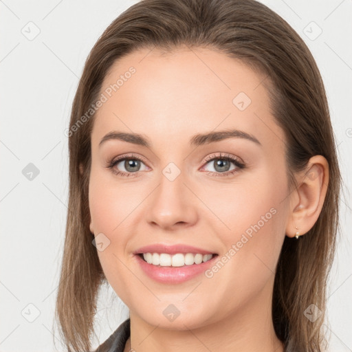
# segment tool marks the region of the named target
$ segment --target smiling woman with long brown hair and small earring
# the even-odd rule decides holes
[[[144,0],[91,50],[72,107],[56,314],[88,351],[322,351],[340,171],[318,67],[254,0]]]

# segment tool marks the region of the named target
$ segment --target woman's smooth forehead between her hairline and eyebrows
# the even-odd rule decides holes
[[[263,142],[283,131],[275,124],[265,75],[210,49],[137,50],[112,65],[100,94],[92,144],[118,130],[144,133],[164,145],[216,129],[256,133]]]

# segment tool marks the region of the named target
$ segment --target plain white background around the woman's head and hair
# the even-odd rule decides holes
[[[91,47],[135,2],[0,0],[1,352],[64,351],[53,322],[67,212],[64,130]],[[352,1],[263,3],[303,37],[327,89],[345,193],[329,286],[331,351],[352,351],[352,210],[347,192],[352,165]],[[30,21],[40,30],[32,41],[21,32]],[[311,27],[311,21],[322,30],[315,40],[311,39],[319,29]],[[29,163],[39,169],[32,181],[22,173]],[[126,306],[114,296],[111,287],[102,289],[96,320],[99,341],[93,347],[128,316]],[[38,318],[29,322],[26,318],[35,318],[36,309]]]

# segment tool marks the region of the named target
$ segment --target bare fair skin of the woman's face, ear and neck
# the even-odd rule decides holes
[[[98,251],[100,263],[130,309],[124,351],[130,344],[138,352],[283,351],[271,316],[275,267],[285,236],[305,234],[318,219],[329,179],[326,159],[312,157],[305,173],[295,175],[298,188],[289,190],[285,136],[270,111],[265,76],[241,61],[204,48],[140,50],[114,63],[101,92],[131,66],[135,74],[96,113],[89,181],[90,230],[110,241]],[[244,111],[232,103],[239,92],[252,100]],[[197,133],[225,129],[245,131],[261,145],[236,137],[189,146]],[[111,131],[141,133],[151,147],[121,140],[99,147]],[[107,168],[128,153],[144,160],[137,173],[122,177]],[[205,161],[220,153],[247,167],[223,175],[228,169]],[[170,162],[180,171],[173,181],[162,173]],[[127,173],[124,162],[114,168]],[[221,258],[271,208],[271,219],[212,278],[157,283],[133,256],[151,243],[186,243]],[[170,304],[179,310],[172,322],[163,314]]]

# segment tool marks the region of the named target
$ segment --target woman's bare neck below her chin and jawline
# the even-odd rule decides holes
[[[170,330],[149,325],[130,311],[131,340],[124,351],[283,352],[272,324],[272,304],[266,289],[236,311],[197,329]],[[263,298],[265,297],[265,301]]]

